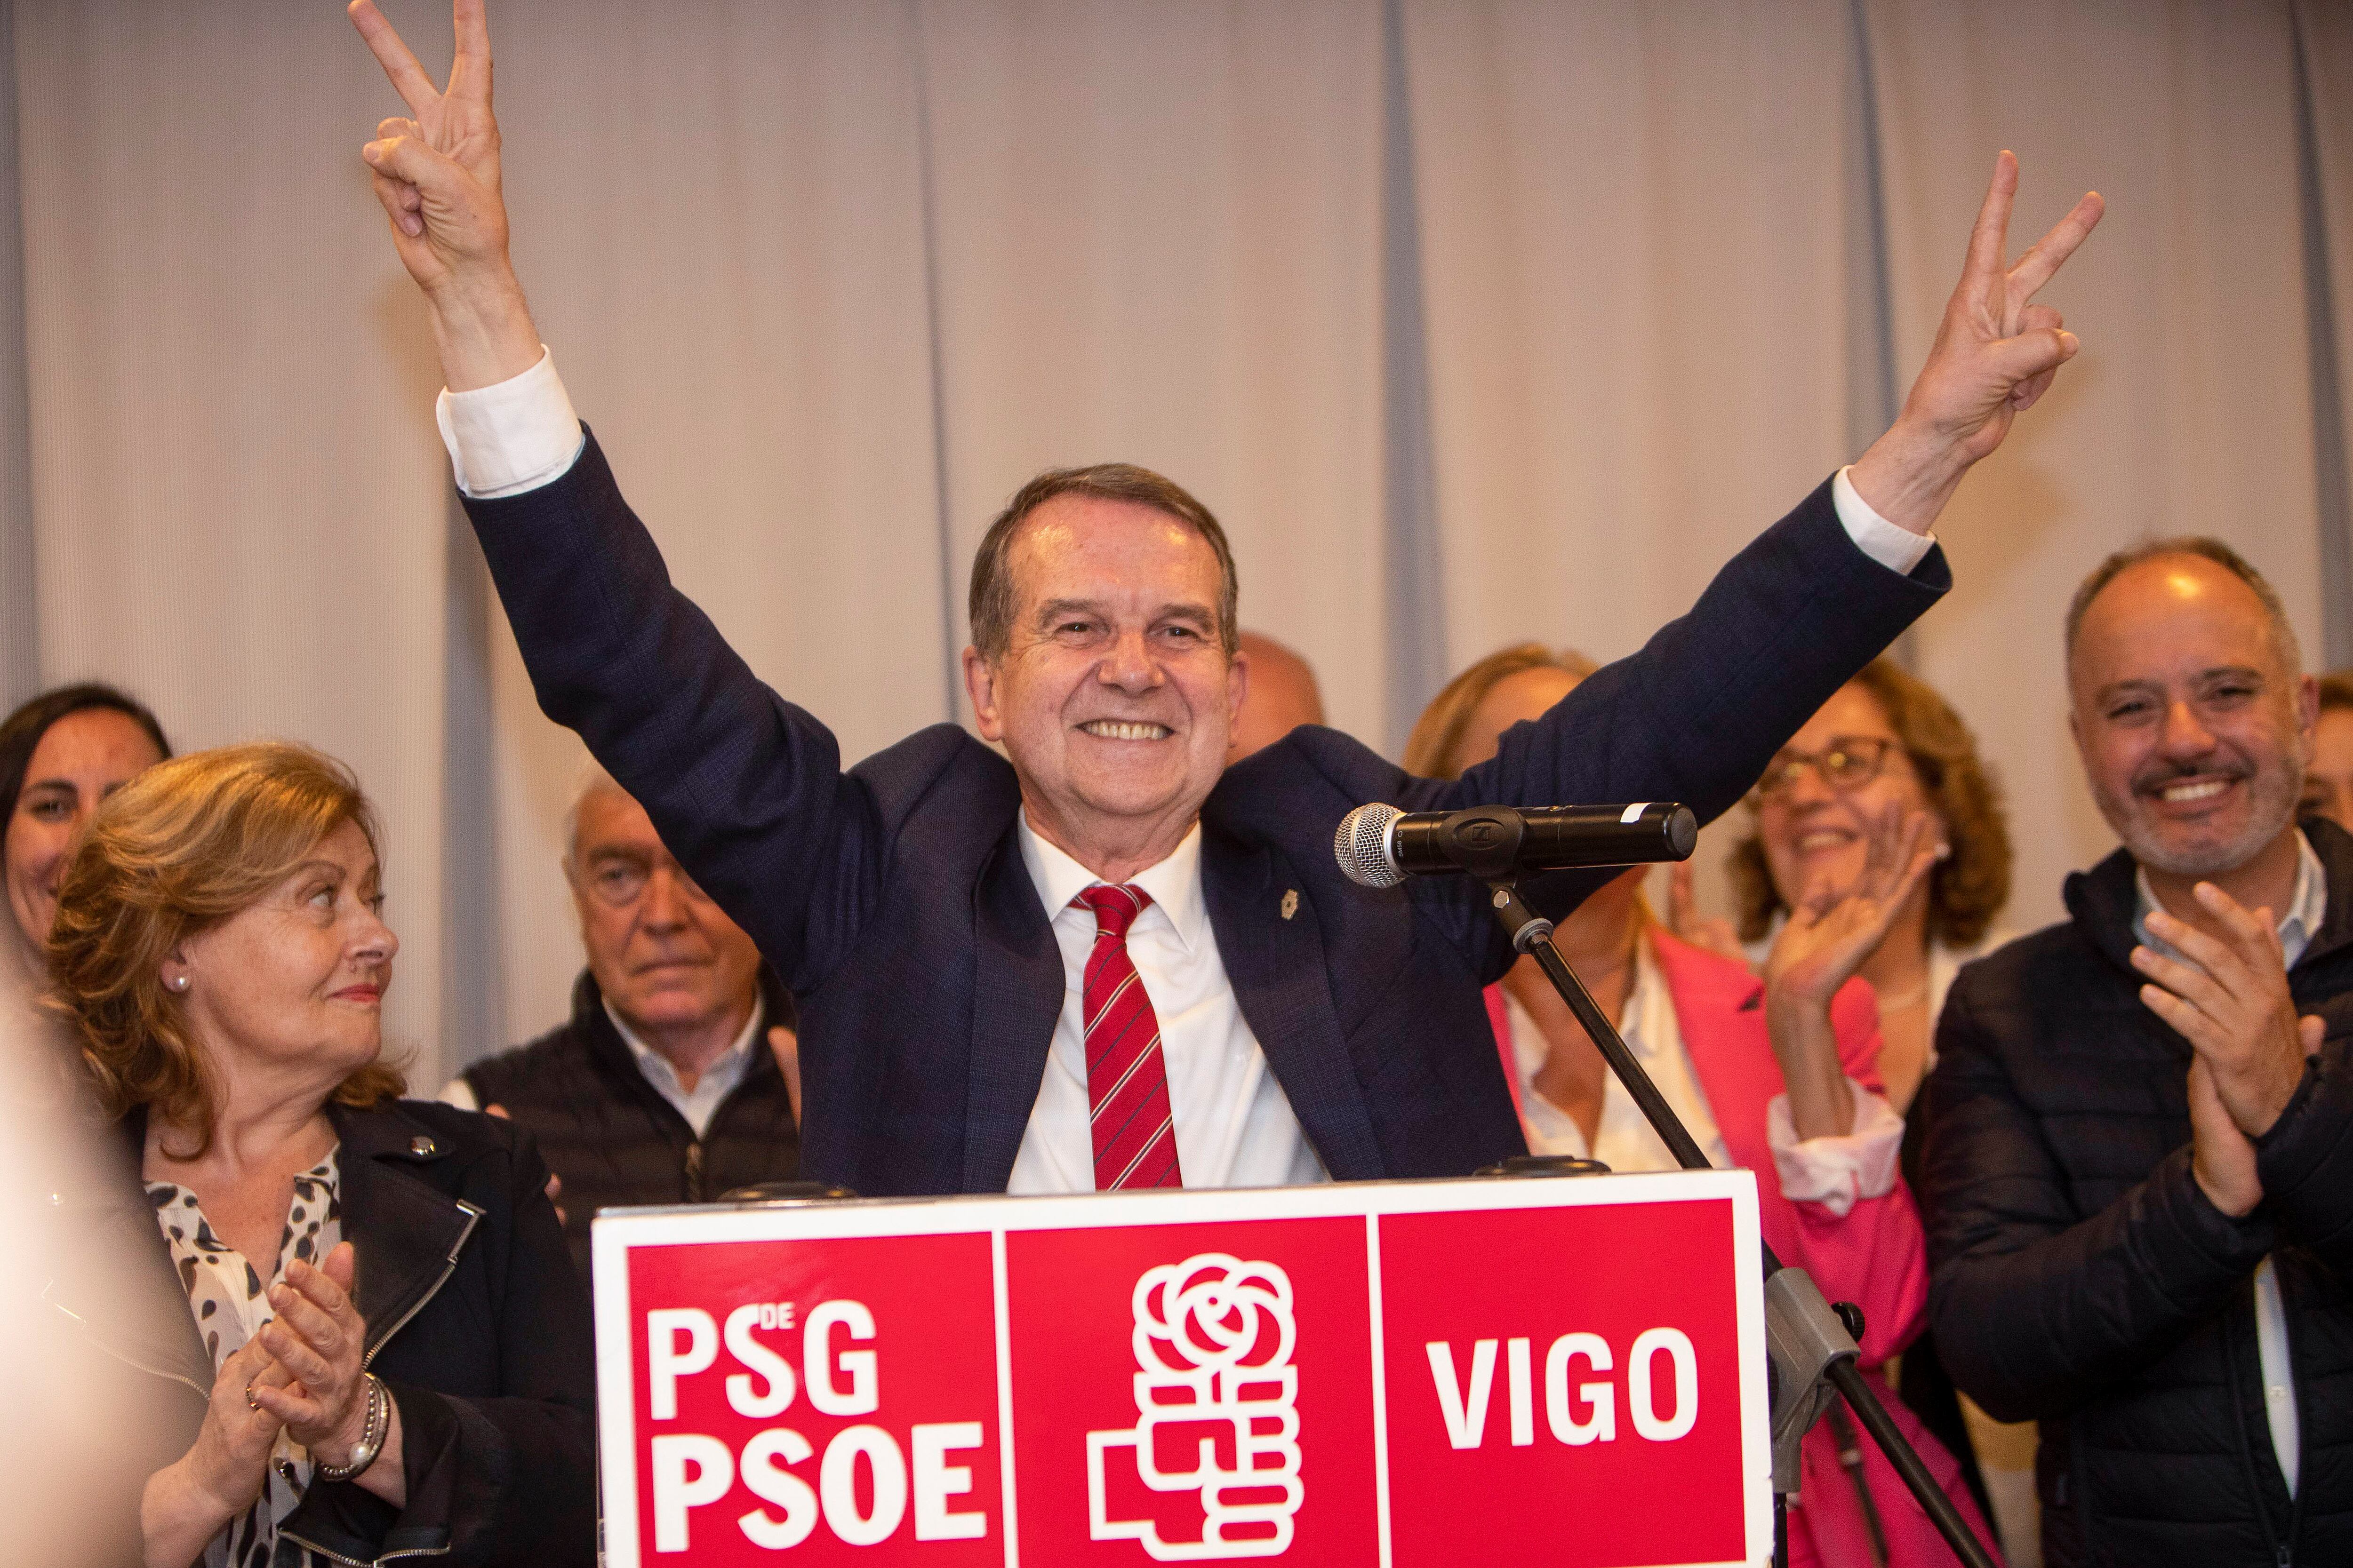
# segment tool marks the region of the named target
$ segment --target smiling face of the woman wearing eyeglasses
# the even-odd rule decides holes
[[[1824,762],[1835,755],[1864,757],[1871,750],[1880,750],[1871,778],[1849,780],[1845,788],[1824,778]],[[1788,766],[1798,757],[1814,759],[1814,766]],[[1835,762],[1831,771],[1838,771]],[[1951,832],[1887,708],[1857,682],[1831,693],[1805,729],[1788,738],[1765,776],[1784,783],[1758,802],[1758,842],[1765,846],[1774,893],[1788,907],[1798,907],[1812,886],[1845,891],[1861,879],[1871,858],[1871,823],[1880,820],[1889,802],[1899,802],[1906,811],[1927,811],[1937,835],[1932,842],[1944,842]]]

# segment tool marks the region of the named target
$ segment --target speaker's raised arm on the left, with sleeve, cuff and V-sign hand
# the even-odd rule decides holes
[[[873,802],[826,726],[671,585],[572,411],[506,252],[482,0],[454,2],[445,89],[374,0],[351,19],[409,106],[362,158],[428,303],[447,378],[435,414],[539,705],[645,804],[786,985],[809,990],[875,882]]]

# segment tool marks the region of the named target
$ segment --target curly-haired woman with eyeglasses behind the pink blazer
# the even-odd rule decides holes
[[[1878,1018],[1878,1077],[1906,1117],[1901,1168],[1918,1175],[1925,1119],[1920,1084],[1937,1065],[1937,1013],[1960,966],[2009,940],[1995,926],[2009,898],[2009,827],[1977,738],[1953,705],[1892,661],[1875,661],[1838,689],[1765,769],[1748,797],[1753,832],[1729,858],[1739,929],[1689,917],[1678,896],[1678,931],[1711,947],[1746,952],[1767,987],[1788,966],[1788,945],[1812,910],[1835,905],[1871,872],[1873,837],[1894,818],[1925,820],[1939,858],[1871,945],[1821,976],[1871,985]],[[1687,891],[1689,877],[1678,877]],[[1795,914],[1793,914],[1795,912]],[[1734,945],[1734,940],[1746,947]],[[1784,1006],[1809,1030],[1826,1027],[1819,987],[1781,985]],[[2012,1561],[2040,1559],[2031,1422],[2002,1425],[1965,1406],[1929,1340],[1899,1363],[1904,1401],[1969,1467],[1969,1483],[1993,1514]]]

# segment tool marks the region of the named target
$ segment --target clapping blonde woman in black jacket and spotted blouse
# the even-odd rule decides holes
[[[52,1006],[120,1135],[66,1206],[146,1288],[49,1300],[172,1394],[96,1521],[122,1561],[593,1561],[586,1291],[539,1159],[398,1098],[379,839],[341,764],[235,745],[122,785],[59,884]]]

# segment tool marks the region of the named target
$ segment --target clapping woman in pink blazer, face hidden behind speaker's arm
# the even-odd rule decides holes
[[[1459,776],[1497,738],[1567,693],[1591,665],[1527,644],[1457,677],[1407,745],[1417,773]],[[1864,1309],[1864,1368],[1918,1333],[1927,1309],[1920,1213],[1897,1173],[1904,1121],[1878,1074],[1878,1004],[1854,978],[1911,889],[1937,863],[1925,816],[1889,813],[1854,889],[1819,889],[1774,943],[1765,978],[1673,938],[1640,896],[1640,872],[1602,886],[1555,943],[1718,1166],[1758,1173],[1765,1241],[1831,1300]],[[1525,973],[1522,973],[1525,971]],[[1666,1145],[1609,1077],[1544,976],[1522,959],[1487,992],[1529,1150],[1671,1171]],[[1953,1455],[1887,1396],[1979,1540],[1993,1549]],[[1948,1563],[1951,1549],[1878,1448],[1838,1408],[1805,1439],[1791,1561],[1826,1568]]]

